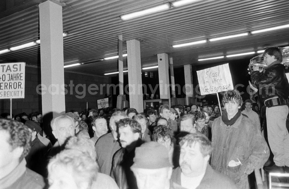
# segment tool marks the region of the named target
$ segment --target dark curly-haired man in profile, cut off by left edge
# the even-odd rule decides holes
[[[26,168],[31,133],[21,122],[0,119],[0,188],[42,189],[43,177]]]

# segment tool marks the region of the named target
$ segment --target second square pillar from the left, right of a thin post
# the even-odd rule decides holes
[[[128,86],[125,86],[124,90],[127,92],[129,87],[129,107],[143,112],[140,41],[136,39],[127,41],[127,69]]]

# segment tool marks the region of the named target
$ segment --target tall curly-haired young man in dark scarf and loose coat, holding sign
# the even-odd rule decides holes
[[[222,103],[225,110],[212,124],[211,166],[228,175],[240,189],[249,189],[248,175],[260,169],[269,157],[264,137],[253,122],[241,114],[240,92],[228,90]]]

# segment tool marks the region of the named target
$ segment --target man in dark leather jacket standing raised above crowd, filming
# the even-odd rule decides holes
[[[286,128],[288,116],[289,84],[285,75],[282,54],[278,47],[264,51],[267,67],[253,67],[252,83],[259,88],[260,99],[266,105],[268,141],[274,154],[275,165],[266,171],[289,172],[289,134]],[[285,167],[284,167],[285,166]]]

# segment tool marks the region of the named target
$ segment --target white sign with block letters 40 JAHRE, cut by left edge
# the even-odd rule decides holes
[[[23,99],[25,63],[0,64],[0,99]]]

